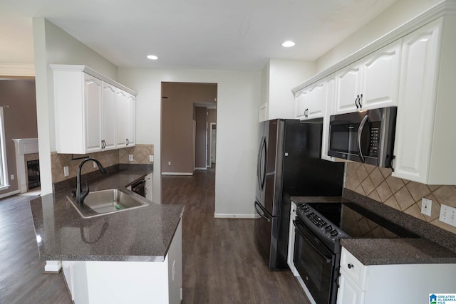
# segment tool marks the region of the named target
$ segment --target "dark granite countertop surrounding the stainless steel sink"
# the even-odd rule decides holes
[[[90,191],[127,187],[146,173],[138,166],[123,168],[89,182]],[[149,206],[83,219],[66,197],[72,189],[30,201],[41,260],[164,261],[183,205],[148,201]]]

